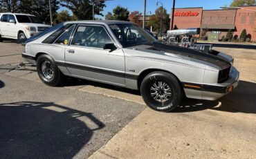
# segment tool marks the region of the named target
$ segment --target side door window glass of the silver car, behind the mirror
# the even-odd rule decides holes
[[[113,41],[102,26],[78,26],[71,45],[103,48]]]

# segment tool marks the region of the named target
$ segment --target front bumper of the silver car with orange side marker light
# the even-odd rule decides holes
[[[230,69],[230,77],[221,84],[194,84],[183,82],[183,88],[187,97],[201,100],[217,100],[223,95],[233,91],[239,84],[239,71],[235,67]]]

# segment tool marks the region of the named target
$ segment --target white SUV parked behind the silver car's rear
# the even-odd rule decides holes
[[[0,13],[0,41],[3,38],[28,39],[50,27],[35,15]]]

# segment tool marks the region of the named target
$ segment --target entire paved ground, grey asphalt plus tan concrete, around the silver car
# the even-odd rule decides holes
[[[70,79],[39,81],[13,70],[22,46],[0,43],[0,158],[254,158],[256,50],[235,57],[241,82],[220,100],[186,100],[172,113],[148,109],[137,91]]]

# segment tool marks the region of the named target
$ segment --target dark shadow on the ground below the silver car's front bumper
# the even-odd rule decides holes
[[[256,83],[240,81],[239,86],[217,101],[186,99],[174,112],[212,109],[231,113],[256,113]]]

